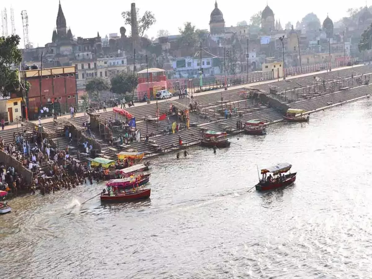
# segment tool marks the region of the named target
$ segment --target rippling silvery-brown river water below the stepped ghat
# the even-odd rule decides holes
[[[103,206],[100,185],[11,201],[4,278],[369,278],[371,100],[153,160],[151,200]],[[295,185],[257,193],[257,166]]]

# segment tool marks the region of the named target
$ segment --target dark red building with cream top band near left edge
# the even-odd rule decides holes
[[[40,108],[53,103],[62,113],[68,111],[70,105],[77,106],[75,73],[75,66],[22,71],[20,77],[31,84],[26,100],[29,118],[36,119]]]

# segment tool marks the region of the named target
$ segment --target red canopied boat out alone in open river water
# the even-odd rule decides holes
[[[296,180],[297,173],[288,173],[292,165],[281,163],[261,170],[262,179],[255,185],[257,191],[267,191],[291,185]],[[267,173],[270,173],[267,176]],[[283,175],[282,175],[283,173]]]

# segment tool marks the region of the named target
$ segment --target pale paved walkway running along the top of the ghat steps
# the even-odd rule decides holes
[[[334,68],[331,72],[335,72],[335,71],[340,71],[340,70],[345,70],[345,69],[350,69],[350,68],[355,68],[357,70],[357,67],[360,67],[360,66],[363,66],[364,64],[361,64],[361,65],[354,65],[354,66],[348,66],[348,67],[340,67],[340,68]],[[317,74],[321,74],[321,73],[327,73],[328,70],[324,70],[324,71],[318,71],[318,72],[313,72],[313,73],[307,73],[307,74],[300,74],[300,75],[297,75],[297,76],[289,76],[289,77],[286,77],[286,80],[292,80],[292,79],[296,79],[296,78],[301,78],[301,77],[308,77],[308,76],[316,76]],[[280,78],[280,80],[283,80],[283,78]],[[240,85],[237,85],[237,86],[231,86],[231,87],[228,87],[228,90],[237,90],[237,89],[242,89],[244,87],[254,87],[254,86],[257,86],[257,85],[260,85],[260,84],[268,84],[268,83],[274,83],[274,82],[277,82],[278,80],[264,80],[264,81],[259,81],[259,82],[255,82],[255,83],[248,83],[248,84],[240,84]],[[193,96],[195,97],[198,97],[198,96],[203,96],[203,95],[208,95],[208,94],[213,94],[213,93],[219,93],[219,92],[225,92],[225,89],[224,88],[221,88],[221,89],[215,89],[215,90],[209,90],[209,91],[206,91],[206,92],[200,92],[200,93],[193,93]],[[161,102],[169,102],[169,100],[173,100],[173,101],[177,101],[179,98],[178,96],[175,96],[175,97],[172,97],[171,99],[165,99],[165,100],[158,100],[158,103],[161,103]],[[151,101],[151,103],[155,103],[156,101]],[[145,106],[147,105],[146,102],[140,102],[140,103],[135,103],[135,106],[136,107],[139,107],[139,106]],[[112,111],[113,108],[107,108],[107,111]],[[100,112],[103,112],[103,109],[100,110]],[[79,113],[76,113],[76,116],[75,117],[80,117],[80,116],[84,116],[84,112],[79,112]],[[66,115],[62,115],[62,116],[59,116],[58,118],[68,118],[70,119],[70,113],[66,114]],[[48,123],[48,122],[52,122],[53,121],[53,118],[52,117],[48,117],[48,118],[43,118],[41,120],[41,123]],[[38,123],[38,120],[33,120],[31,121],[33,123]],[[4,130],[8,130],[8,129],[13,129],[16,127],[16,123],[12,123],[10,125],[7,125],[5,126]],[[20,125],[20,124],[18,124]]]

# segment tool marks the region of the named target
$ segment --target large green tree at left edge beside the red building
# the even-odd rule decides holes
[[[19,71],[11,68],[12,65],[17,68],[22,61],[22,53],[17,48],[19,41],[18,35],[0,37],[0,93],[3,96],[8,96],[9,93],[19,94],[22,91]]]

